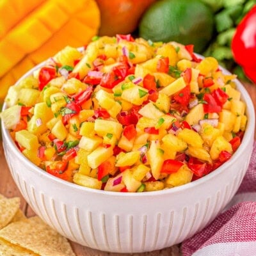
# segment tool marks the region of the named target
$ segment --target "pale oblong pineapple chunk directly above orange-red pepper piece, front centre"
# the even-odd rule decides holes
[[[111,156],[113,156],[112,147],[97,147],[87,156],[88,165],[91,168],[97,168],[101,163],[106,161]]]

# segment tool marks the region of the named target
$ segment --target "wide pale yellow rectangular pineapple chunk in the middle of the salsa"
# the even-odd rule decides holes
[[[114,134],[117,139],[120,138],[123,127],[122,124],[110,120],[96,119],[94,125],[95,132],[99,136],[106,136],[106,134]]]

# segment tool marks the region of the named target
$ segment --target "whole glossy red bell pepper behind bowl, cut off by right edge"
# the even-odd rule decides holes
[[[231,48],[234,60],[243,67],[244,73],[256,83],[256,5],[246,13],[237,25]]]

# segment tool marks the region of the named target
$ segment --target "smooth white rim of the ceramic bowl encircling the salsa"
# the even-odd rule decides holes
[[[77,49],[79,49],[81,51],[81,47],[77,48]],[[204,56],[202,56],[200,54],[196,54],[196,56],[198,56],[199,58],[205,58]],[[43,67],[46,62],[47,62],[47,60],[42,61],[35,67],[28,70],[28,72],[26,72],[23,76],[20,77],[20,79],[17,80],[17,82],[14,84],[14,86],[19,84],[19,82],[22,79],[24,79],[25,77],[29,76],[30,74],[33,74],[33,72],[38,70],[38,68]],[[223,72],[223,74],[227,74],[227,75],[231,74],[227,69],[221,67],[220,65],[219,65],[219,68]],[[6,129],[4,127],[3,120],[1,120],[1,130],[2,130],[2,134],[3,134],[3,140],[6,140],[6,143],[8,143],[8,146],[11,148],[13,153],[16,154],[17,157],[19,157],[20,161],[23,161],[24,163],[26,163],[26,165],[29,165],[29,167],[31,169],[38,172],[38,175],[43,176],[45,179],[51,179],[52,182],[62,184],[63,186],[68,186],[71,189],[76,189],[76,190],[84,191],[87,193],[96,193],[96,194],[104,195],[104,196],[118,196],[118,197],[119,196],[121,196],[121,197],[129,196],[129,197],[137,198],[137,197],[141,197],[141,196],[142,197],[144,197],[144,196],[161,196],[161,195],[166,195],[166,194],[172,195],[175,193],[179,193],[180,191],[184,191],[184,190],[186,191],[186,190],[189,190],[196,186],[200,186],[202,183],[207,182],[208,180],[214,179],[214,177],[218,176],[226,168],[232,166],[232,164],[234,164],[236,159],[242,156],[244,150],[246,150],[246,147],[248,146],[248,143],[250,143],[250,140],[252,139],[251,138],[252,134],[254,134],[254,129],[255,129],[255,109],[253,106],[252,99],[251,99],[249,93],[244,88],[243,84],[237,78],[234,79],[234,82],[236,83],[236,86],[237,86],[237,89],[239,90],[239,92],[241,92],[241,98],[246,103],[246,116],[248,117],[248,122],[246,124],[246,130],[244,131],[244,136],[243,136],[241,145],[239,146],[239,148],[237,148],[236,152],[232,155],[232,157],[227,162],[223,163],[220,167],[218,167],[213,172],[205,175],[204,177],[201,177],[200,179],[194,180],[193,182],[189,182],[187,184],[177,186],[174,188],[163,189],[163,190],[158,190],[158,191],[147,191],[145,193],[137,193],[137,192],[122,193],[119,191],[105,191],[105,190],[101,190],[101,189],[87,188],[87,187],[84,187],[84,186],[81,186],[81,185],[78,185],[78,184],[75,184],[72,182],[68,182],[66,180],[62,180],[58,177],[55,177],[54,175],[51,175],[50,173],[45,172],[43,169],[41,169],[40,167],[36,166],[31,161],[29,161],[29,159],[27,159],[22,154],[22,152],[20,152],[18,150],[17,146],[15,145],[14,141],[12,140],[12,137],[10,136],[10,132],[8,131],[8,129]],[[7,104],[6,104],[6,102],[4,102],[2,111],[6,108],[7,108]],[[4,154],[5,154],[5,150],[4,150]]]

